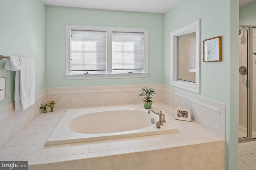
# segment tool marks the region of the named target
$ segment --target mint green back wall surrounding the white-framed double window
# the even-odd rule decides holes
[[[146,78],[66,80],[65,26],[148,28]],[[46,87],[80,87],[162,83],[164,15],[46,6]]]

